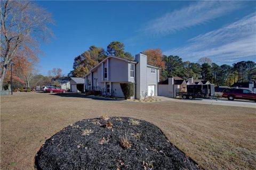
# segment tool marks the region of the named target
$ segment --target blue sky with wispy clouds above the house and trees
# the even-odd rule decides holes
[[[72,70],[91,45],[124,43],[135,55],[161,48],[166,55],[217,64],[256,61],[255,1],[37,1],[52,13],[55,38],[41,44],[39,73]]]

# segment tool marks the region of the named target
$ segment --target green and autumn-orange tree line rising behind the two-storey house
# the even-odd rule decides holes
[[[108,55],[133,60],[134,57],[129,52],[125,52],[124,47],[121,42],[111,42],[106,51],[102,47],[90,46],[89,50],[75,57],[74,70],[70,71],[68,76],[85,76],[91,68]],[[217,86],[230,86],[237,82],[248,82],[256,78],[256,64],[253,61],[239,61],[231,66],[228,64],[219,66],[206,57],[200,58],[198,62],[182,61],[182,58],[177,55],[163,55],[160,48],[150,48],[143,53],[148,56],[148,64],[161,68],[161,80],[171,76],[183,79],[192,76],[197,79],[209,80]]]

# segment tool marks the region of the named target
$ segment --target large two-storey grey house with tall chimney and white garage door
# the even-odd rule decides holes
[[[143,94],[158,95],[159,68],[147,64],[147,55],[137,54],[135,60],[110,55],[85,75],[86,90],[105,90],[123,98],[120,83],[134,83],[132,98],[141,99]]]

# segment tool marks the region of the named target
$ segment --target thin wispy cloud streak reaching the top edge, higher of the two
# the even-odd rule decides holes
[[[153,19],[140,31],[153,37],[165,36],[210,22],[239,7],[241,2],[200,1]]]

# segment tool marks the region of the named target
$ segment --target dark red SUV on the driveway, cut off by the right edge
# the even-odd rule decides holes
[[[228,100],[248,99],[256,101],[256,93],[242,88],[227,88],[222,93],[223,98]]]

